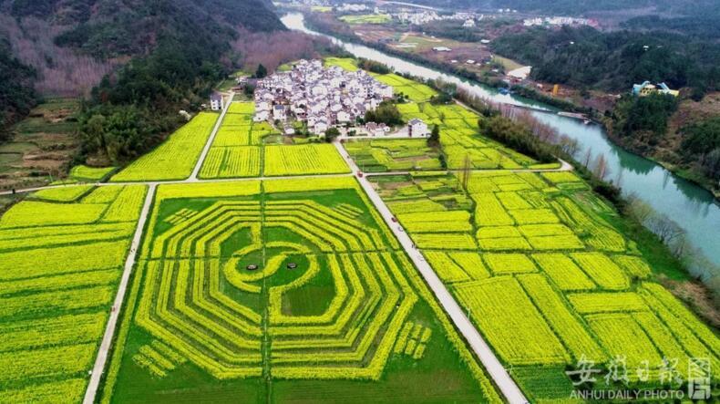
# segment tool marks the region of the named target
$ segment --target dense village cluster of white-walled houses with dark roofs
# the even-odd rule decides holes
[[[275,73],[258,80],[255,89],[256,122],[279,121],[285,134],[293,134],[289,121],[307,123],[307,129],[318,135],[331,127],[352,127],[365,112],[393,98],[391,86],[368,75],[365,70],[345,71],[341,67],[324,67],[321,60],[301,60],[289,72]],[[379,135],[375,125],[372,129]],[[369,130],[368,130],[369,131]]]

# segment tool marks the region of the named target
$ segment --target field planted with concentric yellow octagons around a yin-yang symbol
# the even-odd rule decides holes
[[[354,179],[242,184],[159,187],[103,400],[499,399]]]

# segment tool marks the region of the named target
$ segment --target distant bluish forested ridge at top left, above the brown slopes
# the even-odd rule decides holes
[[[36,17],[67,26],[55,38],[94,57],[146,54],[164,36],[215,37],[226,43],[234,29],[282,29],[265,0],[5,0],[15,18]]]

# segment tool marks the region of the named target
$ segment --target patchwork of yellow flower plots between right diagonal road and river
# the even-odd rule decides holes
[[[535,372],[569,395],[564,370],[581,360],[605,371],[622,358],[631,385],[660,387],[663,357],[677,359],[685,378],[689,358],[702,357],[716,382],[720,339],[656,283],[636,244],[611,224],[617,213],[579,177],[464,175],[417,171],[376,181],[499,358],[519,369],[531,399],[557,399]],[[651,376],[638,378],[645,363]],[[600,379],[594,388],[608,388]]]

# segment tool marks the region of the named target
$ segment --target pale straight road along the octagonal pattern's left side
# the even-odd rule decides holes
[[[108,325],[105,327],[105,335],[102,337],[102,342],[98,348],[98,357],[95,359],[95,366],[90,374],[90,382],[87,384],[83,404],[93,404],[93,402],[95,402],[95,396],[98,393],[98,387],[100,385],[100,378],[108,362],[110,347],[112,347],[113,338],[115,337],[115,329],[118,324],[120,309],[122,308],[123,301],[125,301],[125,293],[128,289],[130,274],[132,274],[132,268],[135,266],[136,257],[138,256],[142,232],[148,220],[152,199],[155,196],[155,188],[156,186],[154,184],[149,186],[148,195],[145,197],[145,203],[142,205],[138,227],[135,228],[135,235],[132,237],[132,243],[130,243],[130,254],[128,254],[128,259],[125,261],[125,269],[120,278],[118,295],[115,296],[115,303],[110,310]]]

